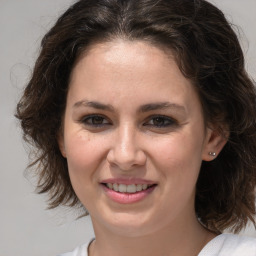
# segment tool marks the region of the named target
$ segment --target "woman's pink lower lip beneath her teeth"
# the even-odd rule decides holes
[[[150,187],[146,190],[138,191],[135,193],[121,193],[121,192],[116,192],[112,189],[109,189],[105,185],[102,185],[103,190],[107,194],[107,196],[112,199],[113,201],[120,203],[120,204],[132,204],[139,202],[146,198],[154,189],[156,186]]]

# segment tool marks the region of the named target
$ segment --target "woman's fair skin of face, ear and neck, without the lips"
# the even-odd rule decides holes
[[[72,71],[59,139],[92,218],[90,256],[197,255],[215,235],[195,216],[195,185],[202,160],[225,142],[205,126],[199,97],[171,52],[142,41],[93,45]],[[156,187],[120,204],[101,185],[109,178]]]

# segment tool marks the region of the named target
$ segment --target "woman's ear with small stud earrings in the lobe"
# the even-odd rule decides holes
[[[206,128],[206,136],[204,149],[202,152],[202,160],[204,161],[212,161],[214,160],[225,144],[227,143],[229,137],[228,130],[224,130],[224,128],[220,131],[220,129],[214,128]]]

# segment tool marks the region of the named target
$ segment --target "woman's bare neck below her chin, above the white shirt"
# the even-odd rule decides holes
[[[96,240],[90,246],[89,256],[196,256],[216,235],[198,223],[175,223],[157,232],[127,235],[102,229],[94,224]]]

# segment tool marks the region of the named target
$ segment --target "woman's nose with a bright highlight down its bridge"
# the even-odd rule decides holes
[[[146,154],[140,146],[138,131],[127,126],[119,127],[108,152],[107,161],[120,170],[129,171],[146,163]]]

